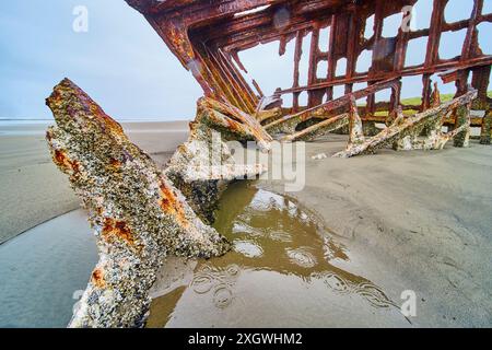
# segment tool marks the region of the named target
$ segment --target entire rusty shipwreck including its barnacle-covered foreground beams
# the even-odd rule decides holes
[[[188,140],[164,170],[70,80],[65,79],[48,97],[57,122],[46,136],[52,160],[89,209],[99,250],[99,261],[70,326],[142,326],[151,301],[149,290],[165,256],[207,258],[231,248],[209,225],[215,203],[229,182],[267,168],[236,164],[226,144],[214,142],[218,133],[225,136],[224,141],[255,140],[268,151],[273,133],[286,133],[281,135],[283,141],[295,141],[345,128],[349,143],[335,154],[339,158],[387,147],[438,150],[452,139],[456,147],[465,147],[470,126],[481,127],[481,142],[490,143],[492,114],[487,91],[492,56],[482,52],[478,25],[492,22],[492,14],[482,13],[483,0],[475,0],[470,18],[456,23],[444,19],[448,0],[434,0],[429,28],[400,28],[389,38],[383,36],[385,19],[417,0],[126,1],[145,15],[206,96],[198,101]],[[365,38],[372,16],[374,34]],[[319,34],[328,27],[330,40],[321,50]],[[459,30],[467,32],[461,55],[440,58],[441,35]],[[308,34],[311,49],[303,52]],[[407,67],[409,40],[421,37],[429,37],[425,61]],[[280,55],[285,54],[288,42],[295,40],[293,85],[265,95],[256,81],[253,88],[246,82],[238,52],[274,40]],[[372,66],[359,73],[356,61],[364,50],[373,51]],[[300,62],[306,54],[308,80],[301,85]],[[339,77],[337,65],[342,58],[348,65]],[[328,69],[320,79],[321,61]],[[444,83],[456,84],[453,101],[442,103],[437,84],[432,88],[436,73]],[[409,75],[422,75],[420,106],[401,105],[401,80]],[[361,82],[367,88],[354,89]],[[333,89],[340,85],[344,95],[335,98]],[[376,103],[376,93],[388,89],[390,101]],[[308,94],[306,105],[301,105],[302,92]],[[293,96],[290,108],[282,106],[286,94]],[[366,98],[365,105],[358,105],[361,98]],[[408,109],[411,115],[405,115]],[[472,118],[471,109],[485,110],[485,117]],[[375,122],[386,128],[378,129]],[[444,132],[444,125],[450,130]],[[216,156],[208,153],[214,144],[221,150]]]

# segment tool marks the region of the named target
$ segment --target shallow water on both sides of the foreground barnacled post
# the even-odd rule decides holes
[[[295,200],[242,182],[216,214],[233,250],[167,258],[149,327],[408,326],[383,290],[350,272],[350,252]],[[0,245],[0,327],[66,327],[96,261],[83,210]]]

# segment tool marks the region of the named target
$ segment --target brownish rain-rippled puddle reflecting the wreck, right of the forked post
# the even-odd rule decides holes
[[[214,226],[233,252],[189,266],[180,298],[157,293],[150,327],[330,326],[385,310],[391,325],[405,320],[377,285],[336,266],[350,265],[347,248],[295,200],[238,183],[220,208]]]

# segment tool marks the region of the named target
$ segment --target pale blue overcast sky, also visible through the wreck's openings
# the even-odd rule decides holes
[[[446,19],[468,18],[472,2],[452,0]],[[415,26],[423,27],[431,0],[418,3]],[[89,10],[86,33],[72,28],[78,5]],[[484,12],[492,12],[492,0],[485,0]],[[399,21],[388,20],[387,30],[395,31]],[[492,54],[491,25],[481,32],[488,36],[482,39],[485,51]],[[447,39],[442,54],[453,55],[461,46],[459,39],[459,33]],[[293,42],[284,57],[276,58],[278,44],[272,44],[242,56],[267,94],[292,85]],[[418,62],[424,55],[425,43],[414,43],[409,59]],[[65,77],[118,120],[190,119],[202,94],[143,16],[124,0],[0,1],[0,118],[51,118],[44,100]],[[420,95],[418,81],[407,86],[403,96]]]

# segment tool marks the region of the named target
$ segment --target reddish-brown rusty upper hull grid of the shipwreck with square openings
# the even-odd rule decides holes
[[[403,110],[417,112],[432,107],[434,74],[440,74],[444,83],[456,84],[455,97],[468,91],[467,83],[471,77],[471,85],[478,91],[472,108],[485,110],[484,118],[471,118],[471,126],[481,127],[481,142],[490,143],[492,113],[487,91],[492,56],[482,52],[478,35],[481,23],[492,23],[492,13],[482,13],[484,0],[467,0],[473,1],[472,13],[469,19],[455,23],[447,23],[444,15],[449,0],[431,0],[433,10],[430,26],[418,31],[400,28],[394,37],[383,35],[385,19],[423,0],[126,1],[145,16],[183,66],[191,71],[206,96],[226,101],[261,121],[276,115],[272,107],[280,109],[283,95],[292,94],[293,102],[292,107],[280,109],[280,117],[332,101],[336,86],[343,86],[345,94],[350,94],[358,83],[367,83],[371,88],[396,80],[389,102],[376,103],[376,91],[373,91],[364,96],[366,104],[361,113],[364,122],[388,124],[388,119],[397,117],[402,77],[422,77],[422,103],[419,106],[402,106]],[[366,38],[364,33],[370,18],[374,18],[373,35]],[[324,28],[329,30],[329,43],[319,43]],[[461,30],[466,30],[461,55],[442,59],[442,35]],[[303,42],[308,36],[309,51],[303,52]],[[425,37],[424,62],[407,66],[409,42]],[[290,40],[295,42],[293,84],[289,89],[278,89],[272,92],[272,96],[265,96],[255,80],[249,84],[243,77],[242,71],[247,71],[238,52],[259,44],[279,42],[279,55],[283,55]],[[326,49],[320,49],[319,45]],[[372,51],[372,65],[367,71],[358,72],[356,62],[364,50]],[[309,62],[306,85],[300,84],[303,55],[308,55]],[[342,75],[337,75],[340,59],[347,59],[347,68]],[[328,63],[325,78],[317,77],[320,62]],[[308,95],[305,106],[300,102],[303,92]],[[329,115],[318,117],[323,119]],[[274,118],[269,121],[272,120]],[[452,116],[445,125],[454,128],[456,118]]]

